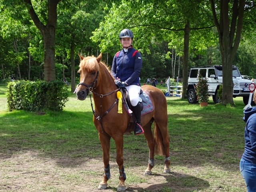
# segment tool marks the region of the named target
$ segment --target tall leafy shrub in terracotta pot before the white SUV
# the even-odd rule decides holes
[[[209,95],[208,95],[208,84],[207,79],[199,76],[198,83],[196,84],[196,94],[199,100],[200,106],[208,106]]]

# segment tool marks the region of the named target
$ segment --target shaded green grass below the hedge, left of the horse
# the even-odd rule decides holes
[[[50,158],[101,159],[98,131],[92,117],[92,112],[6,113],[0,122],[0,158],[35,151],[39,156]]]

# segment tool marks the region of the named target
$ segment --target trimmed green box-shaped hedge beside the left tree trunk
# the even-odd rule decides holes
[[[7,86],[7,104],[12,110],[63,110],[68,101],[68,88],[63,81],[18,81]]]

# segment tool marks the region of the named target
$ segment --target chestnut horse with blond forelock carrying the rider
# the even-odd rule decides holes
[[[126,174],[124,172],[124,138],[127,132],[130,116],[128,112],[118,113],[117,92],[114,77],[104,62],[101,62],[102,53],[96,58],[94,56],[80,56],[78,73],[80,73],[80,83],[76,89],[79,100],[85,100],[88,94],[92,93],[94,108],[93,122],[98,130],[98,136],[103,151],[104,178],[100,182],[98,189],[106,189],[110,179],[110,139],[113,138],[116,144],[116,163],[119,167],[119,184],[117,191],[125,191]],[[154,110],[142,116],[141,123],[144,129],[144,136],[148,142],[149,160],[148,167],[144,175],[151,175],[154,167],[154,154],[165,156],[164,173],[170,173],[170,152],[168,135],[168,114],[167,102],[163,92],[151,85],[144,85],[141,89],[146,92],[154,105]],[[90,94],[91,96],[91,94]],[[122,105],[124,111],[124,105]],[[151,126],[154,122],[154,135]],[[129,130],[130,132],[133,130]],[[128,131],[128,132],[129,132]],[[131,133],[130,133],[131,134]]]

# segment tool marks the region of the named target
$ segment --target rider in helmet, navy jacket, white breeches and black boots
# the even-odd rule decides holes
[[[116,86],[118,88],[126,87],[128,91],[132,112],[136,118],[134,134],[140,135],[144,133],[141,126],[141,106],[139,102],[139,75],[142,68],[142,56],[140,52],[132,46],[133,33],[131,30],[122,30],[119,39],[123,48],[114,56],[111,74],[115,78]]]

